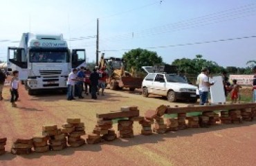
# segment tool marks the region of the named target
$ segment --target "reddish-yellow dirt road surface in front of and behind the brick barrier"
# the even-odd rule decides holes
[[[10,154],[12,138],[32,137],[44,124],[59,127],[66,118],[78,117],[90,133],[96,123],[96,113],[107,113],[124,105],[137,105],[140,115],[159,104],[170,104],[161,98],[143,98],[122,91],[107,91],[99,100],[89,96],[67,101],[65,95],[27,95],[19,89],[18,107],[12,108],[8,89],[0,102],[0,136],[6,136],[8,152],[0,156],[0,165],[255,165],[256,125],[226,124],[209,129],[187,129],[153,136],[141,136],[140,125],[134,124],[135,138],[117,139],[98,145],[84,145],[63,151],[48,151],[25,156]],[[177,104],[177,103],[175,103]],[[185,105],[178,103],[179,105]],[[117,125],[114,125],[117,129]],[[116,130],[117,131],[117,130]],[[85,136],[86,137],[86,136]],[[84,138],[85,138],[84,137]]]

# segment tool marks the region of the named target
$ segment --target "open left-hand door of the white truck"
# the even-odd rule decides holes
[[[28,78],[28,60],[24,48],[8,47],[7,71],[19,71],[19,80]]]

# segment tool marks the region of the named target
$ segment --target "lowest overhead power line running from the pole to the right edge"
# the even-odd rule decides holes
[[[232,40],[238,40],[238,39],[250,39],[255,38],[256,36],[247,36],[247,37],[235,37],[235,38],[229,38],[229,39],[217,39],[217,40],[211,40],[206,42],[194,42],[194,43],[187,43],[187,44],[175,44],[175,45],[169,45],[169,46],[151,46],[151,47],[145,47],[145,49],[156,49],[156,48],[168,48],[168,47],[176,47],[176,46],[191,46],[195,44],[210,44],[210,43],[217,43],[217,42],[226,42],[226,41],[232,41]],[[123,51],[123,50],[131,50],[132,48],[123,48],[120,50],[101,50],[103,52],[117,52],[117,51]]]

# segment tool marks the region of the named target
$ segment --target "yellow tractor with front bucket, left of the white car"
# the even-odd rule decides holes
[[[136,77],[134,68],[131,68],[131,73],[125,71],[125,65],[122,58],[119,57],[104,57],[104,53],[100,57],[99,68],[106,68],[109,77],[106,82],[111,90],[129,88],[129,91],[140,89],[143,78]]]

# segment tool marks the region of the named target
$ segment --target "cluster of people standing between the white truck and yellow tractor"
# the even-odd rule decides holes
[[[106,68],[102,67],[99,69],[98,66],[93,68],[93,72],[91,72],[89,68],[84,68],[83,66],[79,69],[74,68],[68,75],[67,100],[75,100],[75,96],[84,98],[82,95],[83,90],[86,95],[91,93],[91,98],[94,100],[98,98],[97,95],[100,95],[100,89],[101,95],[104,95],[107,80],[107,73],[105,70]]]

